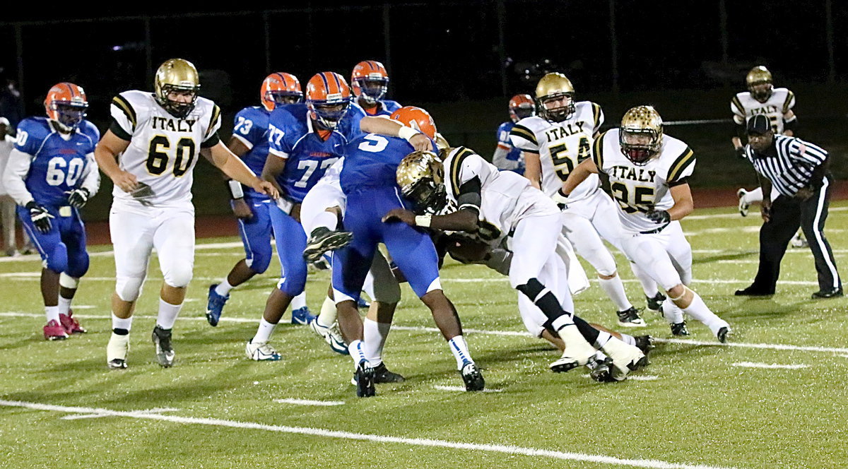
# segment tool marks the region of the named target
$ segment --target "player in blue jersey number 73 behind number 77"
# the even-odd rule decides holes
[[[272,73],[265,77],[259,88],[261,106],[249,106],[236,114],[232,137],[227,145],[233,154],[243,159],[245,165],[261,176],[268,156],[268,116],[276,106],[300,103],[304,92],[300,81],[294,75],[285,72]],[[230,299],[232,288],[247,282],[256,274],[261,274],[271,264],[271,198],[243,186],[235,180],[227,181],[232,196],[232,211],[238,218],[239,234],[244,244],[245,259],[239,260],[226,278],[220,283],[209,286],[206,306],[206,320],[217,326],[226,300]],[[296,302],[296,301],[295,301]],[[297,306],[297,305],[293,305]],[[304,305],[293,308],[292,322],[298,317],[309,315]],[[300,323],[305,320],[301,318]]]

